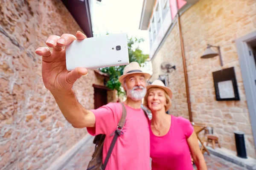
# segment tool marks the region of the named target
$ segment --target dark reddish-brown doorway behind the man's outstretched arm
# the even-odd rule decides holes
[[[94,109],[108,104],[108,88],[101,85],[93,85],[94,88]]]

